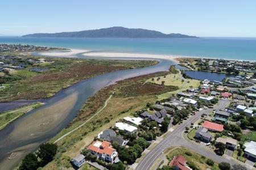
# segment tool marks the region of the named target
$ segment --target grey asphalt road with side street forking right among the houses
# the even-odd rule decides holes
[[[228,100],[220,99],[219,103],[216,105],[216,107],[214,107],[212,109],[205,109],[205,110],[199,111],[196,113],[196,115],[189,117],[186,121],[183,122],[183,124],[181,124],[178,128],[176,128],[169,135],[167,135],[167,137],[164,138],[161,142],[159,142],[158,145],[153,150],[148,152],[144,156],[144,158],[141,160],[141,162],[139,162],[139,164],[137,165],[137,167],[135,169],[138,169],[138,170],[150,169],[152,164],[154,164],[155,160],[157,158],[159,158],[159,156],[161,154],[163,154],[163,151],[171,146],[185,146],[185,147],[188,147],[189,149],[194,150],[194,151],[198,152],[199,154],[204,155],[205,157],[210,158],[216,162],[228,162],[231,165],[236,164],[229,159],[226,159],[222,156],[218,156],[218,155],[214,154],[213,152],[210,152],[210,151],[206,150],[205,148],[200,147],[199,145],[195,145],[191,142],[188,142],[187,140],[185,140],[183,138],[183,135],[182,135],[183,131],[185,130],[185,127],[191,126],[191,123],[198,120],[202,114],[207,114],[210,111],[213,111],[214,109],[216,109],[216,110],[224,109],[226,107],[226,105],[228,105],[228,104],[229,104]]]

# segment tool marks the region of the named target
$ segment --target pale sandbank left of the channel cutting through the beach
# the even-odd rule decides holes
[[[40,54],[44,56],[54,56],[54,57],[72,57],[78,53],[88,52],[88,50],[81,50],[81,49],[70,49],[70,50],[63,50],[63,52],[42,52]]]

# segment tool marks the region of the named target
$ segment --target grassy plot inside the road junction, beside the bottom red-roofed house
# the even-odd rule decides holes
[[[188,152],[190,152],[192,155],[189,156]],[[183,155],[185,157],[185,159],[187,160],[187,164],[193,163],[196,165],[196,167],[198,169],[201,169],[201,170],[207,169],[207,168],[210,168],[212,170],[219,169],[217,163],[215,163],[213,166],[210,166],[207,163],[205,163],[207,160],[207,158],[205,158],[205,156],[197,154],[196,152],[191,151],[185,147],[174,148],[171,151],[169,151],[169,153],[167,155],[170,158],[170,160],[172,160],[172,158],[176,155]]]

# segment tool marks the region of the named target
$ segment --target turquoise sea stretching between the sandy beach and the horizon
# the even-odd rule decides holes
[[[108,39],[0,37],[0,44],[30,44],[88,50],[110,50],[148,54],[175,54],[256,60],[256,39]]]

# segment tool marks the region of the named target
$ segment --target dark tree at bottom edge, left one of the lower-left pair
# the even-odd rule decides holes
[[[27,154],[19,166],[19,170],[36,170],[37,168],[38,158],[34,153]]]

